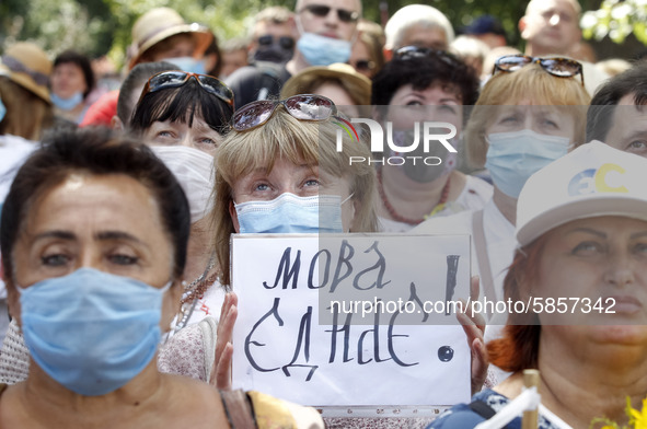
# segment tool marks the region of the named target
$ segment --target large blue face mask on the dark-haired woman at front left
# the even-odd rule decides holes
[[[65,387],[105,395],[155,356],[170,287],[80,268],[19,288],[25,344],[38,367]]]

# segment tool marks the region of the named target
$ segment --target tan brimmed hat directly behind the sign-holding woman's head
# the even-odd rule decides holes
[[[353,66],[335,62],[330,66],[315,66],[303,69],[294,74],[284,84],[281,89],[281,98],[292,95],[303,94],[311,89],[312,82],[322,78],[336,78],[349,82],[358,91],[351,94],[357,100],[357,104],[368,106],[371,104],[371,81],[366,76],[355,71]]]

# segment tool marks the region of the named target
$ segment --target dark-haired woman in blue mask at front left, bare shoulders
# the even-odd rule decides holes
[[[0,426],[228,427],[233,406],[254,421],[255,394],[158,371],[188,230],[182,188],[140,142],[90,129],[34,152],[2,208],[3,278],[31,364],[0,386]],[[275,405],[265,415],[292,418]]]

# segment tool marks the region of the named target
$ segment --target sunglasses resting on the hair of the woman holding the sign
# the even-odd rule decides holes
[[[335,103],[322,95],[300,94],[281,101],[262,100],[246,104],[234,113],[233,129],[249,131],[265,124],[279,104],[299,120],[326,120],[337,114]]]

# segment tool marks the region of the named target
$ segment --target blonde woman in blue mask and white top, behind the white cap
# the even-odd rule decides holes
[[[523,184],[585,138],[590,97],[581,79],[581,65],[573,60],[500,57],[464,131],[467,160],[487,169],[493,197],[482,210],[430,219],[414,230],[472,234],[473,269],[493,301],[502,299],[502,279],[512,262]]]

